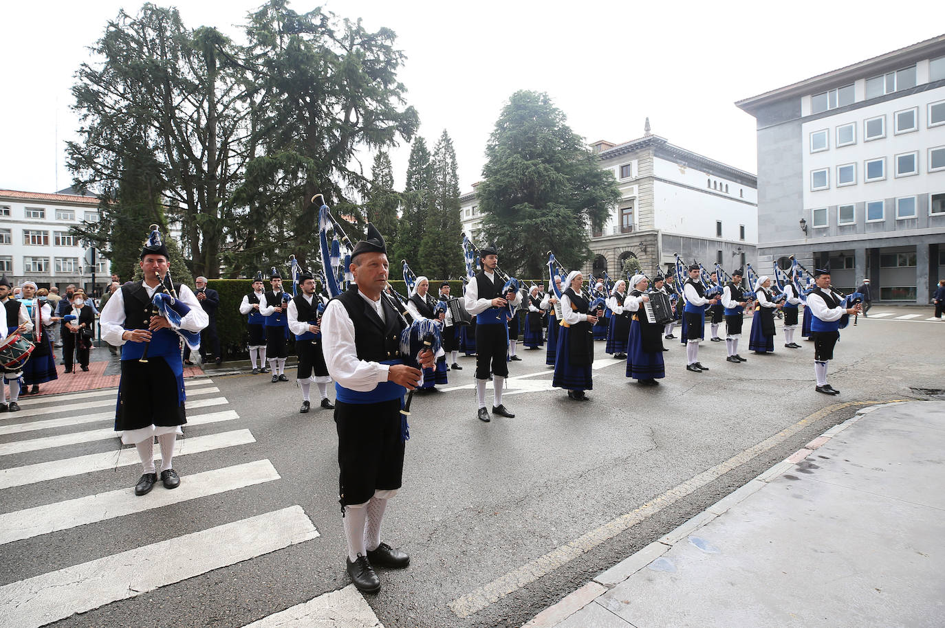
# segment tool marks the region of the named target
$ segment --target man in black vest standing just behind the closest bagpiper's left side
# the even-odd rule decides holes
[[[312,405],[309,391],[313,380],[318,386],[321,407],[331,410],[335,406],[328,399],[328,382],[332,378],[322,352],[321,328],[318,326],[321,322],[321,315],[318,314],[321,299],[315,294],[315,278],[309,273],[302,273],[299,275],[299,287],[301,292],[289,301],[285,314],[289,331],[296,337],[296,355],[299,357],[296,382],[301,388],[299,413],[304,415]]]

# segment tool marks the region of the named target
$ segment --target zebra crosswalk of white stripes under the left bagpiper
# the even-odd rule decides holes
[[[21,412],[2,416],[0,556],[15,550],[18,543],[35,543],[43,535],[73,535],[79,542],[82,526],[103,522],[120,525],[121,518],[160,511],[176,504],[182,504],[183,512],[188,512],[187,504],[194,504],[193,512],[185,516],[196,520],[200,500],[282,480],[269,460],[247,458],[244,460],[249,462],[186,475],[176,490],[163,490],[159,486],[144,498],[136,498],[130,485],[137,473],[126,471],[129,485],[117,490],[93,491],[86,495],[71,491],[68,499],[61,501],[30,502],[36,499],[32,497],[31,486],[36,486],[36,495],[48,495],[55,493],[55,483],[68,478],[140,464],[137,450],[121,448],[112,430],[115,395],[116,391],[111,389],[30,398]],[[222,407],[229,402],[210,379],[188,382],[187,398],[187,430],[192,426],[199,426],[199,430],[198,435],[188,433],[179,440],[175,458],[206,456],[256,442],[250,430],[229,427],[239,414]],[[61,433],[63,429],[68,432]],[[50,430],[57,433],[49,433]],[[93,452],[75,455],[82,449]],[[34,456],[40,462],[19,462]],[[49,459],[54,456],[55,459]],[[155,459],[160,457],[160,451],[156,451]],[[87,485],[96,484],[93,481]],[[87,562],[77,561],[77,564],[37,575],[25,574],[30,577],[15,582],[9,582],[15,569],[0,570],[8,572],[6,579],[0,582],[0,618],[3,618],[0,623],[5,628],[36,628],[319,536],[301,505],[291,502],[271,512],[254,512],[251,517],[237,520],[227,518],[214,522],[206,520],[206,514],[200,512],[201,528],[196,532],[155,543],[142,539],[137,547],[124,546]],[[38,558],[38,564],[43,565],[42,557]],[[59,567],[55,559],[51,562]],[[8,564],[6,559],[0,559],[0,563]],[[142,569],[142,565],[146,565],[146,569]],[[380,625],[363,598],[347,587],[256,623],[309,625],[310,620],[318,620],[320,616],[337,616],[338,604],[355,613],[345,625]]]

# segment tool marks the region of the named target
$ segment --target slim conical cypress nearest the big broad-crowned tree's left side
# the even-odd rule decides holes
[[[450,279],[463,270],[456,152],[446,129],[431,161],[431,202],[420,246],[420,267],[430,278]]]

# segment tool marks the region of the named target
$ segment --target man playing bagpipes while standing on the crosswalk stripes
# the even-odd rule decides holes
[[[133,443],[141,457],[145,473],[134,487],[139,496],[157,482],[155,437],[161,446],[164,487],[180,484],[172,467],[177,435],[187,422],[180,338],[186,337],[190,348],[197,349],[199,332],[207,325],[207,313],[191,289],[169,280],[169,260],[155,227],[141,250],[139,265],[145,279],[117,290],[99,318],[102,338],[121,347],[115,432],[121,432],[122,443]]]

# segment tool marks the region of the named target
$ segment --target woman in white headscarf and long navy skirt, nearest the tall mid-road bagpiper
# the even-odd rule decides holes
[[[573,270],[564,281],[567,285],[561,294],[561,329],[558,331],[558,352],[555,356],[555,377],[552,385],[566,388],[568,398],[576,401],[589,400],[585,390],[593,388],[591,365],[593,364],[593,324],[599,311],[591,313],[590,301],[581,296],[584,276]]]

